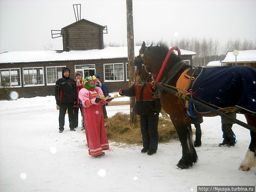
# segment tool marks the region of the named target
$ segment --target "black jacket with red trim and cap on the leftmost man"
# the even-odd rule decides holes
[[[69,76],[64,76],[64,70],[68,68],[64,67],[62,70],[62,78],[58,79],[55,84],[55,99],[58,104],[64,103],[74,103],[78,99],[77,85],[74,79],[71,79]],[[68,69],[69,70],[69,69]],[[70,74],[70,70],[69,70]],[[69,83],[68,83],[69,82]]]

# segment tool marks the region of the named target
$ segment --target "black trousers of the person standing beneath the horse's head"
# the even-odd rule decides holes
[[[143,147],[157,150],[159,113],[154,116],[140,115],[140,131]]]

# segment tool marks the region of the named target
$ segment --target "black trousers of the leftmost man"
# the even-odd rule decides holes
[[[73,103],[64,103],[59,106],[59,130],[64,130],[65,125],[65,114],[68,109],[68,120],[69,128],[73,129],[74,126],[74,104]]]

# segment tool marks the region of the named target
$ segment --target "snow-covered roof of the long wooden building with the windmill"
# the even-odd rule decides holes
[[[135,56],[139,54],[141,46],[134,47]],[[181,55],[195,55],[195,52],[180,50]],[[177,54],[177,52],[176,52]],[[0,63],[28,63],[40,61],[64,61],[64,60],[91,60],[127,58],[127,47],[105,47],[102,50],[69,51],[58,53],[57,51],[18,51],[4,52],[0,54]]]

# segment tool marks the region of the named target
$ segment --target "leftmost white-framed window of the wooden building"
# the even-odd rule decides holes
[[[1,69],[1,88],[3,86],[21,87],[21,69]]]

